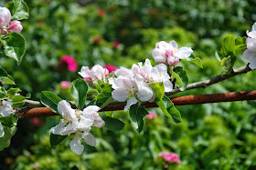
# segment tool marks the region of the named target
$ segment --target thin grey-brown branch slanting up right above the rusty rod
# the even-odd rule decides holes
[[[196,83],[189,84],[189,85],[187,85],[187,88],[186,88],[185,91],[192,90],[192,89],[195,89],[195,88],[202,88],[202,87],[206,88],[209,85],[217,84],[217,83],[219,83],[223,80],[229,79],[230,77],[233,77],[235,75],[245,74],[245,73],[250,72],[250,71],[251,71],[251,68],[248,65],[245,65],[245,66],[242,66],[240,68],[234,69],[234,71],[229,75],[217,75],[217,76],[214,76],[214,77],[212,77],[208,80],[204,80],[204,81],[201,81],[201,82],[196,82]],[[165,95],[170,96],[170,95],[177,94],[179,92],[181,92],[181,90],[179,88],[175,88],[171,92],[166,93]]]

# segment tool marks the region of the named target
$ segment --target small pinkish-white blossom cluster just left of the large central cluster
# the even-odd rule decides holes
[[[109,71],[101,65],[94,65],[91,69],[88,66],[82,66],[79,74],[87,83],[91,83],[96,80],[105,82],[106,76],[109,75]]]

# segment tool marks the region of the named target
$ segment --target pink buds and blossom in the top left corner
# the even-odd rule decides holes
[[[23,26],[19,21],[13,21],[11,24],[12,15],[8,8],[0,6],[0,34],[8,34],[8,32],[20,33]]]

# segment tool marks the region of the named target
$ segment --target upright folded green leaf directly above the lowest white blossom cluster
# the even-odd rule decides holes
[[[72,82],[70,94],[75,98],[78,109],[85,105],[87,91],[88,85],[83,79],[79,78]]]

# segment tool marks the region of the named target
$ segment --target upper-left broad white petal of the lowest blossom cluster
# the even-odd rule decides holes
[[[57,106],[57,109],[58,109],[59,114],[62,116],[65,115],[70,118],[76,116],[75,110],[71,108],[71,105],[66,100],[60,101]]]

